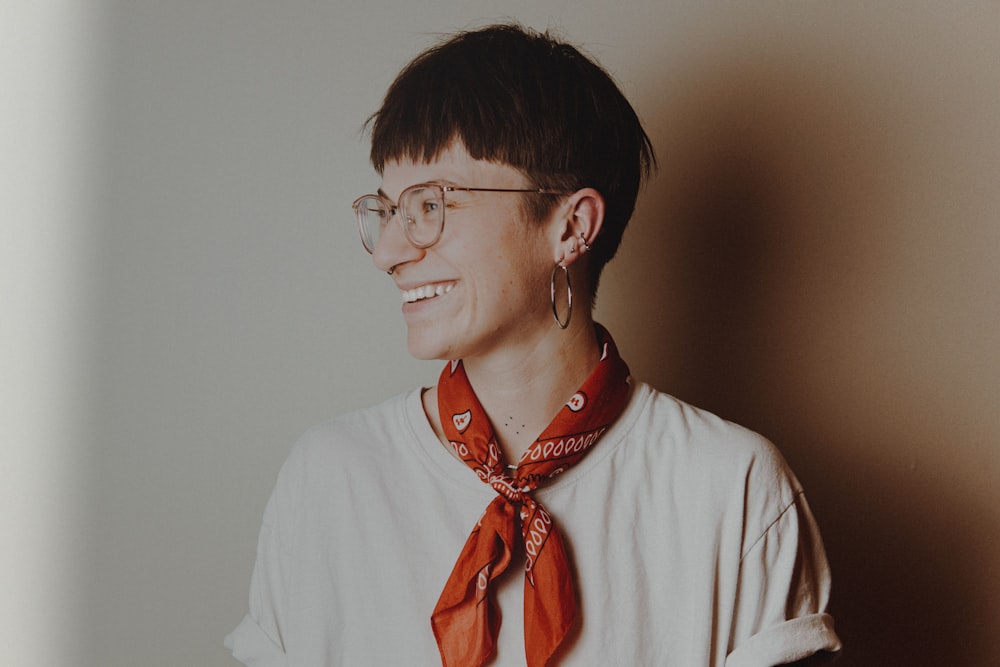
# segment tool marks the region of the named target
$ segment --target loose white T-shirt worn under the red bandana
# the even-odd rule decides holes
[[[317,426],[264,514],[247,665],[440,665],[430,614],[495,492],[431,429],[420,390]],[[535,497],[576,574],[559,665],[767,667],[840,641],[805,497],[759,435],[644,384],[597,445]],[[525,664],[523,569],[500,580],[492,665]]]

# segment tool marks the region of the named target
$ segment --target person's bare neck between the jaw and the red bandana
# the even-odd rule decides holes
[[[463,359],[508,463],[517,462],[600,361],[589,316],[577,318],[576,325],[565,330],[554,323],[552,328],[550,334],[526,341],[517,350]],[[443,439],[436,388],[424,395],[424,409]]]

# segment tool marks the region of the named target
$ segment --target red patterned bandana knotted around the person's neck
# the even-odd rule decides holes
[[[431,626],[445,667],[479,667],[496,650],[500,610],[490,584],[507,569],[515,521],[524,541],[524,645],[528,667],[543,667],[576,618],[566,550],[552,517],[528,494],[583,458],[628,399],[628,366],[610,334],[597,326],[601,361],[584,385],[524,452],[510,477],[496,435],[461,361],[438,380],[438,410],[448,441],[465,464],[499,494],[458,556]]]

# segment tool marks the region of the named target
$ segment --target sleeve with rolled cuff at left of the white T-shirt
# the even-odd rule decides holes
[[[225,640],[233,657],[248,667],[286,667],[282,644],[284,572],[275,526],[275,498],[264,511],[257,562],[250,578],[250,611]]]

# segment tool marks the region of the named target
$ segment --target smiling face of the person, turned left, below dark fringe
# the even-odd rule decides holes
[[[430,163],[390,162],[382,192],[396,201],[416,183],[526,188],[516,169],[474,160],[459,145]],[[390,221],[372,257],[401,291],[410,354],[418,359],[520,354],[551,335],[549,279],[555,264],[551,224],[528,220],[515,193],[448,192],[441,238],[410,245]],[[524,358],[523,356],[521,358]]]

